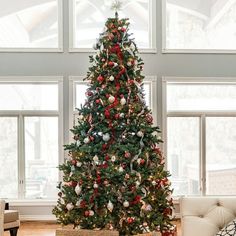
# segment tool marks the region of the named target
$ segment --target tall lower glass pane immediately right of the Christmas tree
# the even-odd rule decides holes
[[[167,157],[174,195],[198,195],[199,118],[169,117]]]

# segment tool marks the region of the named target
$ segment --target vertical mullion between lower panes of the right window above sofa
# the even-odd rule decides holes
[[[200,180],[201,180],[201,194],[206,195],[206,116],[201,115],[200,125]]]

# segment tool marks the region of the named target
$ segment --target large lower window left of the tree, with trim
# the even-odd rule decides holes
[[[61,78],[0,77],[0,198],[56,198],[61,86]]]

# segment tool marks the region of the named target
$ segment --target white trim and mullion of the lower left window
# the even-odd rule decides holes
[[[58,110],[57,111],[34,111],[34,110],[10,110],[0,111],[0,116],[14,116],[18,118],[18,198],[6,199],[9,202],[39,202],[39,199],[24,198],[25,187],[25,159],[24,159],[24,116],[57,116],[58,117],[58,163],[64,162],[63,149],[63,76],[0,76],[0,84],[4,83],[33,83],[33,84],[58,84]],[[58,180],[62,180],[61,173],[58,171]],[[56,186],[55,186],[56,187]],[[43,199],[42,201],[50,201],[50,199]],[[55,200],[53,200],[55,201]]]

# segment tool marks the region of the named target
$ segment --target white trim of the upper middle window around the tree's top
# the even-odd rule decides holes
[[[157,24],[156,24],[156,0],[149,0],[149,42],[151,48],[139,48],[141,54],[157,53]],[[69,52],[88,52],[94,53],[96,50],[92,48],[76,48],[75,42],[75,0],[69,0]],[[95,39],[94,39],[95,42]]]

